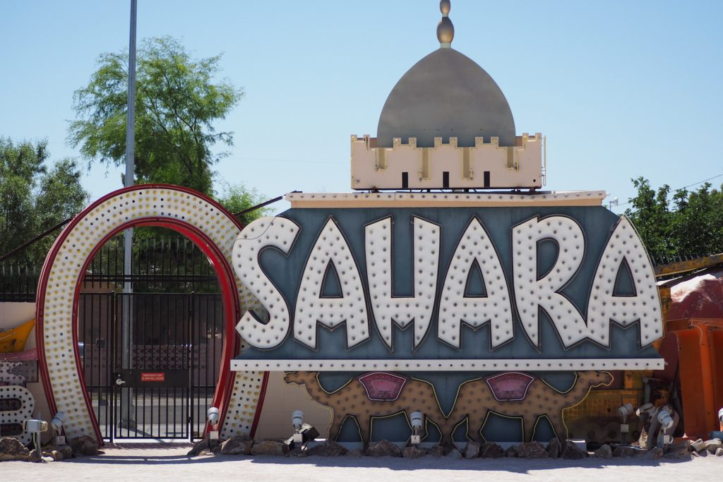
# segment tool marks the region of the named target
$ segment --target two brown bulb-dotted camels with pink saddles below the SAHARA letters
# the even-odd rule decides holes
[[[432,383],[400,374],[363,374],[332,392],[322,387],[317,371],[287,373],[284,381],[303,386],[317,403],[332,408],[330,439],[339,436],[343,422],[351,417],[366,446],[371,440],[372,419],[399,413],[406,414],[408,419],[408,414],[416,410],[437,426],[442,444],[451,444],[455,429],[465,422],[467,438],[482,442],[482,429],[490,413],[520,418],[524,441],[534,438],[534,429],[542,417],[550,421],[560,439],[565,439],[564,410],[581,403],[592,388],[609,385],[612,375],[607,371],[576,372],[573,386],[564,392],[540,378],[519,372],[472,379],[460,385],[450,413],[442,410]]]

